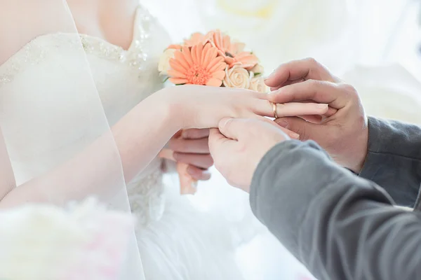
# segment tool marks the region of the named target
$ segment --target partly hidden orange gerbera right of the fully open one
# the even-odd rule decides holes
[[[243,68],[250,70],[259,62],[258,57],[253,53],[244,51],[243,43],[231,42],[231,38],[219,30],[212,32],[210,41],[218,48],[218,53],[225,58],[229,68],[240,64]]]

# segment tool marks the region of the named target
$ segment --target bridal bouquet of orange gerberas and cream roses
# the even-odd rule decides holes
[[[170,45],[159,61],[159,73],[174,85],[236,87],[267,92],[263,67],[245,44],[232,41],[219,30],[195,33],[178,45]],[[180,137],[179,134],[178,137]],[[164,149],[161,157],[171,158]],[[194,193],[196,181],[187,173],[188,165],[177,164],[181,193]]]

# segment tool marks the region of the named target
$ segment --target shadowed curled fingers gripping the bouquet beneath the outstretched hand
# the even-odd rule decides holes
[[[182,137],[176,135],[168,142],[177,162],[187,163],[187,172],[198,181],[210,179],[208,168],[213,165],[209,152],[209,130],[183,130]]]

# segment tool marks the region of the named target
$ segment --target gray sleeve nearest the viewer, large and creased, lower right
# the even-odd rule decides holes
[[[286,141],[260,162],[255,216],[318,279],[421,279],[421,215],[335,165],[313,142]]]

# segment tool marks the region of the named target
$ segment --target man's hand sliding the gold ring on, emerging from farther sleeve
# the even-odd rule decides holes
[[[300,134],[302,141],[316,141],[339,165],[356,173],[361,171],[367,154],[368,125],[354,87],[314,59],[282,64],[265,83],[272,90],[268,97],[271,102],[319,102],[335,109],[319,121],[314,121],[314,116],[302,116],[275,122]]]

